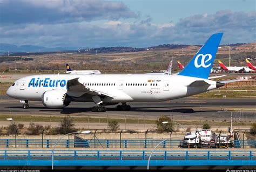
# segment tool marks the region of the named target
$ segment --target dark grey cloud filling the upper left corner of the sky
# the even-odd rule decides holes
[[[122,2],[103,0],[2,0],[2,25],[73,23],[77,21],[137,18]]]

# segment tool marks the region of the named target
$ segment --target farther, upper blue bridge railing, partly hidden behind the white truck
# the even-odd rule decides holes
[[[55,145],[57,139],[0,139],[0,147],[43,147],[51,148]],[[63,139],[58,142],[57,147],[91,147],[91,148],[153,148],[160,141],[160,139]],[[178,148],[181,140],[168,139],[159,147],[161,148]],[[232,140],[234,147],[256,147],[256,140]]]

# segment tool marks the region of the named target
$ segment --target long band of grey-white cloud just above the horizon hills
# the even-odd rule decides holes
[[[1,42],[46,47],[148,47],[158,44],[204,44],[211,34],[224,32],[221,44],[253,42],[256,12],[218,11],[181,18],[178,23],[109,20],[104,23],[29,23],[0,26]]]

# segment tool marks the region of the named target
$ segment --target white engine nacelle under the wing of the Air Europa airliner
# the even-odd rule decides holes
[[[59,108],[68,106],[70,101],[68,101],[65,90],[51,90],[45,91],[42,95],[42,103],[45,107],[49,108]]]

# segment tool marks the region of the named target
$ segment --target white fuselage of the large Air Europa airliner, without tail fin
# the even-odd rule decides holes
[[[24,101],[41,101],[45,91],[68,91],[67,83],[74,78],[79,78],[79,82],[89,89],[114,95],[113,98],[103,99],[104,103],[161,102],[216,88],[215,81],[181,75],[31,75],[15,81],[6,94]],[[208,86],[188,87],[194,81],[205,81]],[[83,97],[73,101],[92,102],[90,98]]]

